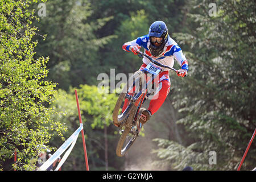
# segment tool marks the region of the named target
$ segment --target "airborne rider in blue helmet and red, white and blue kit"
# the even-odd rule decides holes
[[[131,42],[124,43],[122,48],[124,51],[133,52],[135,55],[138,54],[139,48],[144,48],[144,53],[152,59],[158,61],[161,64],[168,65],[168,67],[174,66],[174,57],[179,63],[181,68],[177,71],[177,75],[181,77],[187,76],[188,72],[188,61],[183,55],[181,48],[177,43],[168,35],[168,28],[166,23],[163,21],[156,21],[151,24],[148,35],[141,36]],[[146,57],[142,59],[143,64],[139,70],[144,69],[148,63],[151,63]],[[170,92],[171,83],[169,77],[168,68],[162,68],[163,72],[159,73],[159,91],[158,98],[150,101],[148,109],[142,107],[139,110],[141,117],[139,121],[146,123],[150,119],[151,115],[156,113],[162,106],[164,100],[168,93]],[[125,105],[127,105],[127,100],[125,100]],[[123,106],[123,110],[124,107]]]

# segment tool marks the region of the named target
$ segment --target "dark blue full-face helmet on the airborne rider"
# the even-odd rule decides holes
[[[156,21],[151,24],[148,36],[150,37],[150,52],[152,56],[159,56],[163,52],[164,45],[167,42],[168,39],[168,28],[166,26],[166,23],[163,21]],[[159,42],[158,45],[155,44],[155,42],[152,41],[152,37],[154,38],[162,38],[161,42]]]

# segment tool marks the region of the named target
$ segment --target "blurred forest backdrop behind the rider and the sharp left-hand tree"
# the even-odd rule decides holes
[[[256,127],[254,1],[47,1],[38,27],[34,57],[49,57],[47,80],[56,82],[52,115],[78,127],[75,88],[79,94],[90,170],[236,170]],[[31,9],[40,8],[34,3]],[[144,125],[143,135],[123,158],[115,155],[119,139],[111,124],[118,94],[99,93],[100,73],[133,73],[142,59],[122,44],[148,34],[156,20],[183,50],[188,76],[170,72],[171,91]],[[44,40],[41,35],[47,34]],[[143,51],[143,50],[142,50]],[[175,62],[174,68],[180,69]],[[147,103],[148,104],[148,103]],[[63,140],[52,137],[49,146]],[[216,152],[216,163],[210,163]],[[81,136],[62,170],[85,170]],[[256,141],[241,170],[256,166]]]

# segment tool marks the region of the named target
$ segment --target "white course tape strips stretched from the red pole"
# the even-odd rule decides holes
[[[72,146],[68,149],[68,151],[66,152],[67,155],[65,154],[63,156],[63,159],[61,159],[59,165],[57,167],[61,167],[62,164],[65,162],[65,160],[68,158],[68,155],[70,154],[70,152],[72,151],[72,148],[75,146],[76,140],[79,136],[80,131],[83,129],[82,124],[80,124],[80,127],[60,146],[60,148],[51,156],[51,158],[49,158],[39,169],[38,171],[46,171],[46,169],[51,166],[51,164],[53,162],[55,162],[55,160],[57,158],[59,158],[59,156],[61,154],[63,154],[63,152],[65,150],[67,150],[67,148],[72,144]]]

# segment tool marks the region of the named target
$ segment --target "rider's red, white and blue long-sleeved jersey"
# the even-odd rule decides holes
[[[154,57],[151,55],[149,46],[150,46],[150,39],[148,35],[141,36],[135,40],[132,40],[130,42],[127,42],[123,44],[122,48],[123,50],[130,52],[129,47],[130,46],[141,46],[144,48],[144,53],[152,59],[158,61],[159,63],[163,65],[167,65],[168,67],[174,67],[174,57],[176,61],[179,63],[181,69],[186,69],[188,71],[188,61],[186,57],[183,55],[183,52],[181,51],[181,48],[177,45],[177,43],[168,35],[168,40],[166,42],[166,45],[164,46],[163,52],[158,56]],[[143,57],[142,59],[143,63],[148,64],[151,63],[150,60],[147,59],[147,57]],[[168,68],[163,68],[163,71],[169,71]]]

